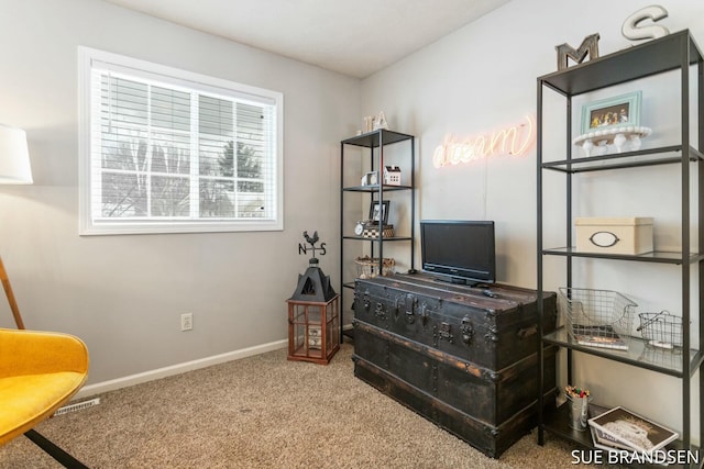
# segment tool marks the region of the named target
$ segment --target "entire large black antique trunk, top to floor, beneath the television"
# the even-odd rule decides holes
[[[498,457],[537,423],[535,291],[442,284],[425,275],[356,281],[355,376]],[[544,331],[556,325],[543,297]],[[544,355],[546,405],[554,405],[556,350]]]

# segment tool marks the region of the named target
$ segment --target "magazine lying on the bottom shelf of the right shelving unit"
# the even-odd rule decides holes
[[[679,437],[679,434],[618,406],[588,420],[590,426],[630,449],[652,454]],[[597,433],[597,438],[601,434]],[[606,436],[601,444],[606,444]],[[596,439],[595,439],[596,442]],[[614,446],[614,445],[610,445]]]

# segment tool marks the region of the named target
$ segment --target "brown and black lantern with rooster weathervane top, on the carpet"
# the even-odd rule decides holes
[[[330,277],[316,258],[316,250],[324,254],[324,243],[316,247],[318,232],[312,237],[304,232],[310,247],[298,245],[299,253],[312,250],[306,272],[298,276],[298,284],[288,303],[288,359],[328,365],[340,349],[340,295]]]

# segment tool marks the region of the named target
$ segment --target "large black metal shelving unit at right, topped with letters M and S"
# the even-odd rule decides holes
[[[546,334],[540,330],[541,347],[540,360],[542,368],[542,356],[544,348],[557,345],[566,349],[568,381],[572,382],[572,370],[575,366],[572,353],[574,350],[602,357],[608,360],[627,364],[634,367],[644,368],[653,372],[675,377],[682,384],[682,432],[681,439],[674,447],[683,449],[696,449],[692,445],[691,438],[691,409],[692,393],[691,381],[698,373],[700,387],[700,442],[704,442],[704,373],[702,364],[704,355],[702,350],[694,347],[702,347],[704,337],[704,323],[698,322],[698,344],[691,344],[691,324],[694,317],[700,317],[698,310],[691,301],[691,293],[698,297],[700,308],[704,308],[704,203],[702,196],[704,191],[704,127],[702,116],[704,115],[704,60],[702,53],[692,38],[689,30],[669,34],[664,37],[653,40],[637,46],[609,54],[604,57],[591,59],[586,63],[575,65],[566,70],[557,71],[538,78],[538,134],[537,134],[537,187],[538,187],[538,221],[537,221],[537,256],[538,256],[538,295],[543,291],[543,258],[546,256],[563,256],[566,264],[565,280],[566,287],[572,287],[572,260],[578,257],[588,257],[595,259],[618,259],[626,263],[656,263],[681,266],[681,299],[682,299],[682,335],[683,346],[681,354],[669,356],[650,357],[646,351],[646,344],[638,338],[630,339],[629,350],[609,350],[606,348],[595,348],[581,346],[573,342],[566,333],[564,326],[554,332]],[[637,152],[624,152],[620,154],[609,154],[606,156],[573,157],[572,155],[572,99],[579,94],[613,87],[636,79],[642,79],[660,75],[667,71],[679,72],[679,88],[681,96],[681,121],[679,144],[661,146],[657,148],[639,149]],[[695,81],[692,80],[695,77]],[[691,81],[693,81],[691,83]],[[693,87],[691,87],[693,85]],[[692,92],[692,89],[694,91]],[[564,147],[565,158],[559,160],[543,161],[543,99],[544,91],[550,90],[561,96],[565,103],[565,133],[566,146]],[[691,114],[690,110],[694,113]],[[695,115],[697,133],[696,146],[691,145],[691,119]],[[554,153],[554,152],[553,152]],[[659,165],[678,165],[681,168],[681,246],[682,250],[654,252],[644,255],[604,255],[593,253],[580,253],[571,246],[573,198],[573,178],[582,172],[593,172],[603,170],[628,170],[637,167],[657,167]],[[546,248],[543,247],[543,174],[554,171],[564,175],[565,178],[565,208],[566,247]],[[696,183],[691,183],[690,177],[696,177]],[[691,214],[691,209],[695,210],[696,219]],[[691,238],[691,223],[694,223],[696,238]],[[697,242],[698,252],[691,250],[691,241]],[[698,279],[694,281],[691,269],[696,267]],[[540,314],[543,314],[542,304],[538,304]],[[542,324],[540,321],[539,324]],[[664,357],[664,358],[663,358]],[[542,369],[540,371],[542,379]],[[542,389],[542,381],[541,387]],[[542,392],[539,393],[539,409],[542,405]],[[563,405],[554,411],[544,411],[539,415],[538,443],[544,442],[544,432],[559,435],[584,447],[594,447],[590,432],[578,432],[568,426],[566,406]]]

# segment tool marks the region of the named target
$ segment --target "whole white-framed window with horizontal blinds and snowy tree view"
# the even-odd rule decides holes
[[[283,228],[282,93],[79,48],[80,234]]]

